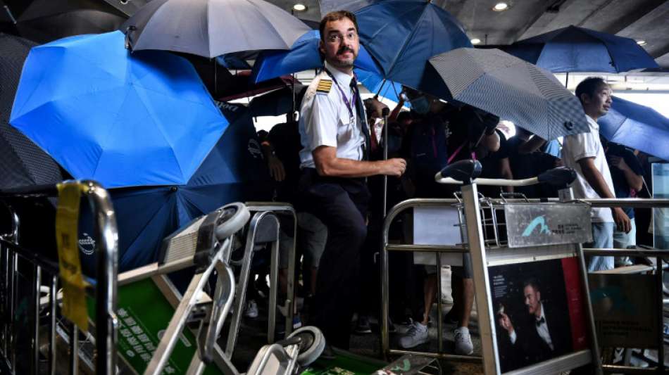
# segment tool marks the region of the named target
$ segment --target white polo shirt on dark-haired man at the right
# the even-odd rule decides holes
[[[589,133],[573,134],[565,136],[562,145],[562,157],[565,166],[573,168],[576,171],[577,178],[572,187],[574,189],[575,198],[600,198],[599,194],[592,189],[592,186],[586,181],[581,170],[578,160],[582,158],[594,158],[594,166],[599,170],[606,181],[608,189],[613,193],[613,179],[611,179],[611,171],[608,170],[608,163],[606,163],[606,156],[604,155],[604,147],[599,141],[599,125],[586,115],[588,125],[590,127]],[[613,215],[611,208],[592,208],[592,222],[613,222]]]

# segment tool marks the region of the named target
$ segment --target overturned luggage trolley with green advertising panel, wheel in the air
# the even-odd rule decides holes
[[[204,362],[215,362],[220,371],[233,371],[230,358],[239,334],[254,249],[259,243],[271,245],[268,343],[274,342],[280,229],[275,212],[294,217],[289,205],[253,202],[225,205],[165,238],[158,262],[119,275],[120,344],[125,348],[121,354],[130,368],[144,374],[160,374],[163,369],[168,374],[197,374],[204,371]],[[231,260],[232,244],[243,227],[247,228],[246,241],[243,258],[237,262],[241,272],[235,284],[230,270],[234,262]],[[294,263],[294,250],[289,257]],[[167,274],[193,266],[196,274],[181,295]],[[207,280],[214,272],[218,275],[218,283],[211,296],[205,292]],[[289,275],[287,303],[292,300],[292,282]],[[229,312],[232,318],[224,351],[215,341]],[[292,316],[289,317],[292,320]],[[196,334],[185,329],[197,322],[200,326]],[[130,332],[135,323],[142,326],[143,331]],[[168,328],[163,330],[164,326]],[[144,340],[144,348],[134,346],[137,338]],[[275,353],[268,351],[271,352]],[[192,358],[192,362],[185,363],[185,358]],[[208,367],[207,370],[211,371]]]

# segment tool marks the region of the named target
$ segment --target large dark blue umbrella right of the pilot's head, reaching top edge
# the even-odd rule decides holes
[[[388,80],[422,89],[430,57],[472,46],[458,20],[431,1],[368,2],[355,11],[360,40]]]

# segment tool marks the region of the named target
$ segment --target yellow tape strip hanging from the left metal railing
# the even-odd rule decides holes
[[[88,331],[88,312],[84,279],[79,260],[79,202],[85,186],[75,182],[58,184],[58,209],[56,210],[56,244],[58,265],[63,286],[63,315]]]

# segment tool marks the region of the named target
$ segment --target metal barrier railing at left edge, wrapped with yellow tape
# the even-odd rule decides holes
[[[97,278],[92,281],[95,295],[95,343],[96,359],[94,371],[96,374],[115,374],[116,371],[116,279],[118,258],[118,232],[111,199],[108,192],[99,184],[92,181],[67,182],[77,184],[80,191],[87,198],[96,219],[95,235],[101,241],[96,248],[98,253],[96,272]],[[0,293],[3,298],[0,308],[4,319],[0,322],[0,351],[1,362],[4,371],[11,374],[43,373],[40,370],[40,348],[42,338],[42,315],[40,299],[42,290],[48,291],[48,303],[46,304],[46,373],[56,374],[56,316],[58,315],[58,263],[48,260],[42,255],[21,246],[20,221],[21,218],[9,202],[12,199],[25,201],[36,198],[54,198],[58,196],[56,186],[32,186],[21,189],[8,189],[0,191],[0,202],[4,203],[11,221],[11,229],[6,234],[0,234],[0,263],[1,281]],[[29,272],[24,272],[28,269]],[[27,288],[23,285],[24,279],[29,277],[31,291],[30,307],[32,311],[28,317],[31,324],[29,327],[19,326],[16,314],[25,305],[19,305],[26,301]],[[22,362],[19,358],[25,355],[18,352],[17,345],[25,337],[25,332],[30,331],[30,362]],[[77,326],[70,326],[69,354],[70,374],[78,373],[79,363],[79,330]]]

